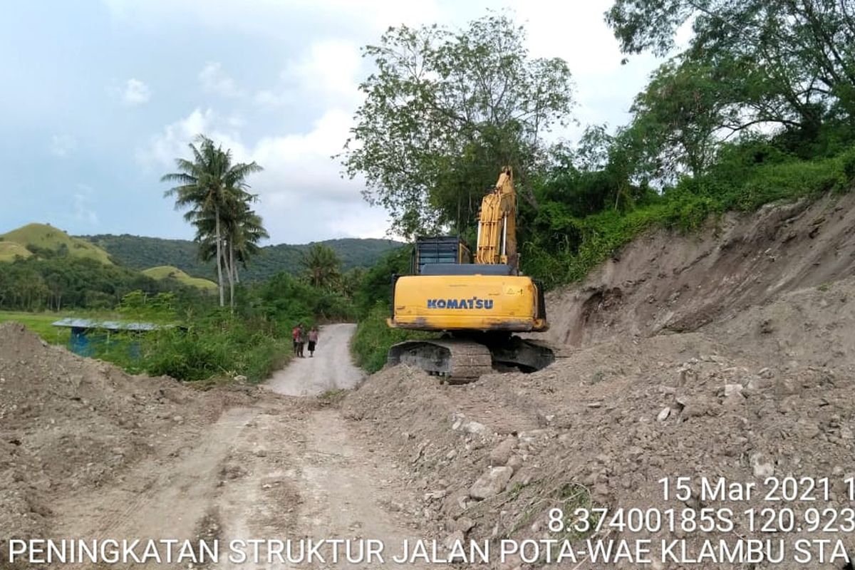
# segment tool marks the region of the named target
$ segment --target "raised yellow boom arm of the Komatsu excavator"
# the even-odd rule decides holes
[[[516,191],[514,173],[504,167],[493,190],[481,200],[478,220],[478,248],[475,263],[510,266],[510,273],[519,273],[516,251]]]

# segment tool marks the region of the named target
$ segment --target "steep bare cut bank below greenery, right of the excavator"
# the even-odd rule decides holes
[[[853,273],[855,194],[726,214],[702,232],[638,238],[581,285],[548,295],[544,336],[585,346],[696,331]]]

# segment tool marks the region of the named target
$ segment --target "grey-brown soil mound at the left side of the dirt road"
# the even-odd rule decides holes
[[[103,485],[159,435],[214,420],[222,406],[174,379],[130,376],[0,325],[2,538],[46,538],[51,497]]]

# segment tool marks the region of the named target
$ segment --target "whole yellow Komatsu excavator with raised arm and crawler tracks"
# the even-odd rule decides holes
[[[462,384],[493,369],[532,372],[555,360],[547,345],[513,335],[542,332],[548,325],[543,286],[519,274],[510,167],[481,201],[475,262],[456,236],[417,238],[412,273],[392,276],[387,324],[443,334],[395,344],[390,364],[420,367]]]

